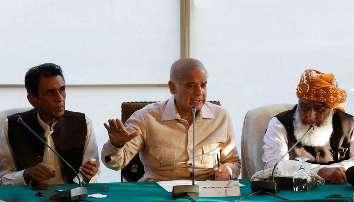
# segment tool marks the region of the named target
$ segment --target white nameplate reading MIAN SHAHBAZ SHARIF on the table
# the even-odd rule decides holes
[[[199,197],[240,196],[239,181],[200,181]]]

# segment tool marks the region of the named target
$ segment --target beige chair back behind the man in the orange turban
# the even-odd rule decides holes
[[[295,104],[267,105],[246,113],[241,136],[242,179],[250,179],[254,173],[264,168],[263,137],[270,119],[294,106]]]

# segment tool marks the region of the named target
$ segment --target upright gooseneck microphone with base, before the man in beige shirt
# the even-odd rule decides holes
[[[194,174],[194,165],[195,165],[195,113],[196,106],[192,107],[193,114],[193,165],[192,165],[192,173],[193,173],[193,182],[192,185],[176,185],[172,188],[173,198],[199,198],[199,186],[195,184],[195,174]]]

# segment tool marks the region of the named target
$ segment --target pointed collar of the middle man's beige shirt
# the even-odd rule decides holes
[[[192,113],[192,111],[191,111]],[[197,118],[205,118],[205,119],[214,119],[214,115],[211,113],[210,109],[206,106],[206,104],[201,108],[200,112],[196,115]],[[161,121],[167,120],[175,120],[181,119],[178,114],[177,107],[175,104],[175,95],[172,95],[167,101],[166,108],[164,113],[162,114]]]

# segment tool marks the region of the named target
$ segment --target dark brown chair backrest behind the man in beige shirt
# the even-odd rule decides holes
[[[146,102],[123,102],[122,103],[122,123],[125,124],[125,121],[137,110],[142,109],[148,104],[155,103],[157,101],[146,101]],[[219,101],[208,101],[215,105],[220,106]],[[128,165],[122,168],[120,172],[120,180],[128,182],[137,182],[145,174],[144,166],[140,161],[139,154],[137,154]]]

